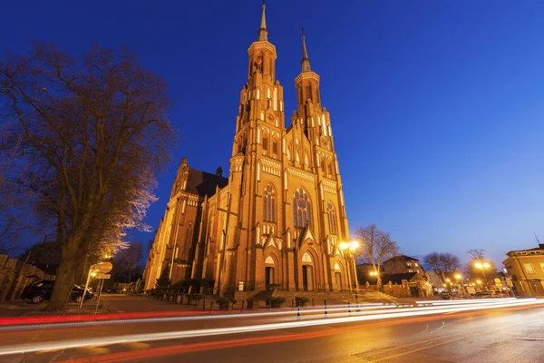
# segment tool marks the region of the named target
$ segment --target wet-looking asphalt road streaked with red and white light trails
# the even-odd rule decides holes
[[[129,298],[127,298],[129,299]],[[149,300],[152,301],[152,300]],[[544,301],[0,327],[2,362],[544,362]],[[131,309],[133,306],[131,305]],[[1,322],[1,321],[0,321]],[[72,325],[70,325],[72,324]],[[27,349],[28,352],[21,353]],[[9,354],[11,353],[11,354]]]

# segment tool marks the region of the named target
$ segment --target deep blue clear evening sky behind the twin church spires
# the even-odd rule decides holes
[[[170,84],[177,164],[228,170],[259,0],[5,2],[0,46],[81,54],[126,46]],[[269,40],[296,107],[300,26],[331,113],[351,231],[376,223],[404,254],[481,248],[495,262],[544,238],[544,3],[270,0]],[[151,240],[152,233],[135,233]]]

